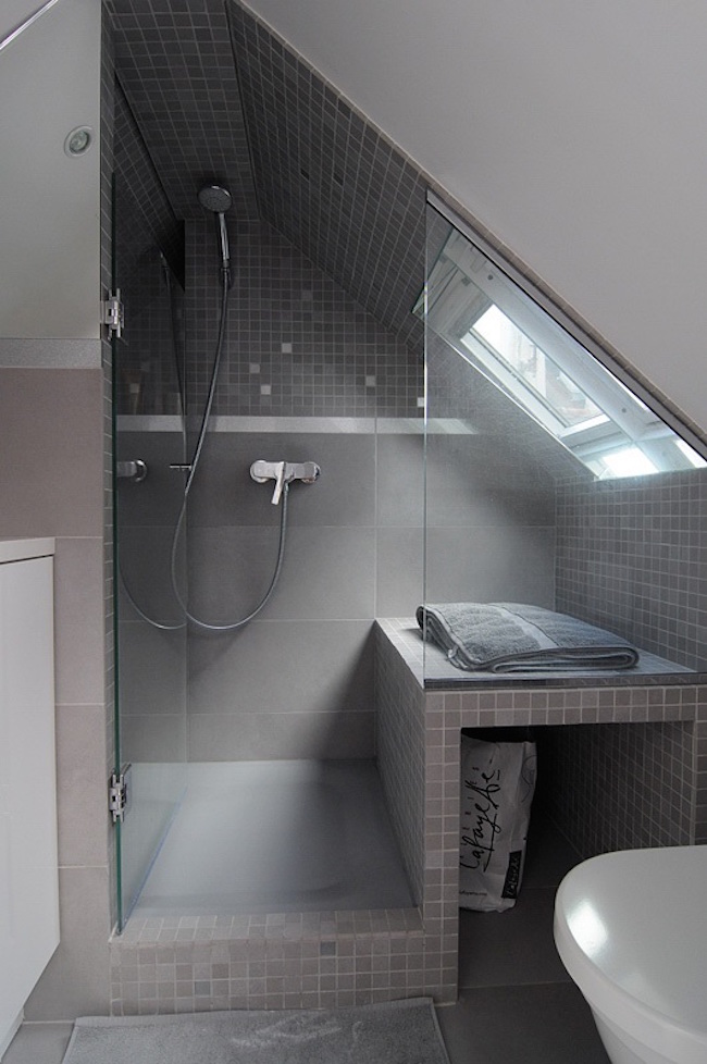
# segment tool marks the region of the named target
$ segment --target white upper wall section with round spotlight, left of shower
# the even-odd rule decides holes
[[[39,4],[2,0],[0,37]],[[100,0],[60,0],[0,51],[0,336],[98,337]],[[70,159],[66,134],[94,128]]]

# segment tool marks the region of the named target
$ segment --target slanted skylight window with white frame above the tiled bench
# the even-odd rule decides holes
[[[454,226],[415,312],[595,477],[640,477],[707,465]]]

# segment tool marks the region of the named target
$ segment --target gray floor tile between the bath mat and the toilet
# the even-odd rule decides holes
[[[573,983],[464,990],[437,1016],[451,1064],[609,1064]]]

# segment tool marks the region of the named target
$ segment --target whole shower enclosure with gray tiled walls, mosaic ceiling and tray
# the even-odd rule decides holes
[[[363,123],[349,108],[332,110],[331,90],[318,78],[307,82],[311,102],[286,77],[297,106],[253,112],[256,81],[262,77],[270,92],[289,64],[280,46],[261,48],[270,34],[255,33],[255,16],[239,3],[204,0],[194,18],[171,3],[158,10],[106,0],[104,10],[115,60],[115,285],[126,311],[115,342],[115,449],[124,474],[116,479],[116,768],[133,767],[129,808],[117,828],[119,924],[134,911],[135,926],[152,904],[183,913],[201,906],[212,916],[257,902],[277,912],[407,908],[419,899],[411,899],[400,868],[375,765],[374,629],[376,616],[409,616],[421,599],[423,367],[404,326],[418,339],[422,329],[407,321],[419,279],[410,282],[381,248],[386,232],[397,240],[402,230],[402,250],[400,218],[409,214],[419,273],[421,182],[407,164],[398,173],[387,141],[367,134],[371,165],[405,200],[402,215],[385,209],[376,184],[358,177]],[[272,183],[280,186],[290,164],[302,190],[319,180],[297,150],[271,164],[266,152],[294,144],[268,127],[285,114],[301,125],[296,136],[325,154],[332,116],[342,124],[337,141],[350,159],[340,173],[336,163],[326,196],[338,197],[340,182],[360,183],[362,213],[339,209],[356,230],[351,247],[359,247],[357,272],[370,299],[348,280],[347,262],[342,269],[313,253],[299,231],[299,206],[294,226],[273,209]],[[332,152],[327,168],[333,159]],[[221,196],[200,202],[204,187],[227,191],[231,207]],[[308,194],[308,202],[326,210],[323,189]],[[342,258],[340,227],[314,228],[339,234]],[[171,274],[157,267],[160,300],[151,301],[144,327],[137,322],[136,339],[135,307],[150,298],[151,283],[137,280],[134,264],[141,269],[150,257],[159,263],[157,248]],[[399,325],[372,305],[382,271],[400,289],[390,300],[405,307]],[[166,308],[165,293],[183,300],[176,344],[169,326],[179,316]],[[222,320],[218,385],[173,564],[189,478],[181,467],[193,465]],[[175,364],[175,347],[178,373],[166,368]],[[227,631],[268,596],[276,573],[263,609]],[[213,852],[199,849],[208,845],[196,827],[195,844],[175,858],[181,873],[202,869],[206,887],[193,878],[188,898],[168,901],[157,884],[174,880],[160,879],[179,834],[174,829],[201,813],[215,822],[216,811],[225,827]],[[278,833],[269,834],[273,825]],[[236,828],[244,829],[239,840],[230,833]],[[296,864],[310,844],[308,867]],[[244,875],[255,867],[255,850],[292,859],[264,879],[241,882],[243,896],[228,901],[214,893],[215,874],[221,868],[235,881],[226,865],[238,845]],[[274,890],[268,899],[264,884]]]

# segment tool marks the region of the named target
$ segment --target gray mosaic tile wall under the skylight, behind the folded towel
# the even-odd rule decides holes
[[[707,471],[558,485],[557,606],[707,663]]]

